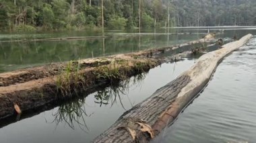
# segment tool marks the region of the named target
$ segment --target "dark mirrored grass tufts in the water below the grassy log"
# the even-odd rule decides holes
[[[141,81],[143,81],[145,77],[146,73],[142,73],[97,91],[94,93],[94,103],[98,104],[99,107],[106,107],[106,105],[113,107],[113,105],[120,103],[123,109],[125,109],[125,105],[122,101],[123,96],[128,97],[127,93],[129,91],[129,87],[131,85],[139,87],[141,85]],[[130,104],[133,106],[131,101]],[[86,120],[92,114],[93,113],[86,113],[86,97],[80,97],[59,105],[57,111],[53,113],[53,122],[56,124],[56,128],[59,124],[65,123],[73,130],[75,130],[75,126],[78,126],[84,132],[88,132],[89,129],[86,125]]]

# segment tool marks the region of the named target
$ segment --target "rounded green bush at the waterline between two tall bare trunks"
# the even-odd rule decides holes
[[[113,17],[108,21],[108,28],[112,30],[123,30],[126,27],[127,19],[123,17]]]

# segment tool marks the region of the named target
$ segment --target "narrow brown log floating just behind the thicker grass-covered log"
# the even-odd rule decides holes
[[[214,40],[214,36],[210,34],[207,36],[207,38],[202,38],[200,40],[194,40],[191,42],[178,44],[174,46],[167,46],[167,47],[161,47],[161,48],[154,48],[149,50],[143,50],[133,53],[127,53],[127,54],[118,54],[113,56],[107,56],[107,57],[99,57],[99,58],[87,58],[82,60],[77,60],[77,62],[83,67],[83,68],[90,68],[90,67],[96,67],[96,66],[102,66],[102,65],[108,65],[111,61],[115,59],[122,59],[122,56],[131,56],[132,58],[156,58],[159,54],[163,52],[168,52],[171,50],[176,50],[178,48],[182,48],[184,46],[189,46],[192,44],[199,44],[199,43],[213,43],[216,40]],[[7,73],[0,73],[0,87],[7,87],[9,85],[16,85],[18,83],[26,83],[28,81],[37,80],[37,79],[43,79],[46,77],[53,77],[55,75],[59,75],[59,69],[61,67],[67,66],[69,62],[55,62],[52,64],[47,64],[44,66],[36,66],[33,68],[25,68],[21,70],[15,70]],[[1,93],[0,93],[1,95]]]

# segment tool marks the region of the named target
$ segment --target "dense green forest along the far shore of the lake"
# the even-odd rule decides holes
[[[102,28],[102,24],[113,30],[139,28],[139,25],[142,29],[253,26],[256,3],[255,0],[0,0],[0,30],[82,30]]]

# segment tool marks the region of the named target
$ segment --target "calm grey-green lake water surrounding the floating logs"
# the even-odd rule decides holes
[[[196,31],[201,31],[201,33],[207,32],[203,28],[201,30],[185,29],[177,31],[192,31],[191,33]],[[237,37],[241,37],[248,33],[256,34],[256,30],[247,28],[241,30],[228,29],[224,31],[224,34],[218,36],[230,38],[235,34]],[[186,36],[181,36],[180,40],[177,40],[177,36],[179,37],[179,35],[175,36],[173,40],[169,36],[171,41],[168,44],[197,39],[197,34],[188,35],[187,39]],[[144,40],[147,38],[154,39],[154,37],[158,39],[156,44],[149,44],[142,40],[143,38]],[[164,33],[158,36],[146,35],[141,36],[141,43],[144,43],[144,49],[148,47],[166,46],[167,38],[167,35]],[[123,37],[121,39],[129,41],[127,42],[128,45],[133,45],[138,38],[135,36],[129,38]],[[5,36],[4,40],[8,40],[8,38]],[[95,40],[100,42],[100,39]],[[131,49],[127,50],[127,48],[120,50],[119,48],[122,48],[122,44],[119,43],[119,40],[117,38],[117,41],[114,40],[115,42],[110,44],[112,46],[117,44],[115,49],[118,50],[113,50],[114,52],[108,52],[108,54],[133,51]],[[28,52],[26,50],[24,52],[24,50],[16,45],[20,42],[3,42],[0,48],[0,50],[2,49],[0,52],[0,70],[3,72],[58,61],[56,60],[57,58],[52,58],[55,60],[44,60],[46,59],[45,57],[51,54],[51,50],[54,48],[52,44],[59,50],[62,50],[63,47],[64,49],[73,50],[72,47],[67,46],[67,43],[70,42],[80,43],[88,42],[88,40],[49,42],[50,47],[42,46],[42,51],[44,52],[38,53],[35,51],[36,47],[41,45],[39,44],[40,42],[36,42],[34,46],[29,47]],[[43,43],[47,45],[47,42],[42,42],[42,45]],[[8,46],[8,44],[16,46]],[[146,46],[147,44],[148,46]],[[138,43],[135,43],[134,49],[138,50],[138,45]],[[140,45],[143,47],[143,44]],[[79,49],[86,50],[87,48],[81,46]],[[97,46],[93,49],[96,50]],[[7,54],[4,55],[2,51],[8,53],[8,58],[5,56]],[[20,58],[15,56],[15,53],[25,54],[26,56],[20,60]],[[56,50],[53,53],[58,54],[59,52]],[[79,57],[77,58],[87,57],[82,52],[77,53],[79,53]],[[72,54],[70,51],[66,52],[67,58],[65,60],[73,60]],[[88,55],[90,57],[90,54]],[[37,59],[37,56],[41,56],[41,58]],[[63,55],[63,57],[66,56]],[[98,54],[98,56],[102,56],[102,54]],[[195,61],[195,58],[187,58],[176,63],[162,64],[150,70],[148,74],[144,75],[141,80],[135,83],[133,83],[132,78],[127,87],[120,87],[119,89],[107,88],[104,91],[92,93],[86,98],[74,99],[49,111],[42,111],[37,115],[23,115],[25,118],[18,122],[14,122],[15,120],[13,120],[12,124],[9,121],[0,121],[0,142],[90,142],[109,128],[127,109],[143,101],[143,99],[152,95],[156,89],[175,79],[184,70],[187,70],[193,65]],[[179,115],[178,120],[172,126],[166,128],[153,142],[255,142],[255,63],[256,38],[254,37],[247,46],[243,46],[223,60],[203,93]],[[119,94],[114,91],[119,91]],[[69,109],[75,110],[72,112]]]

